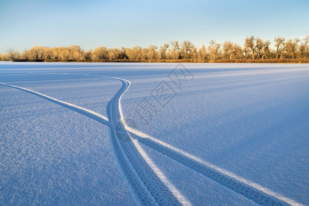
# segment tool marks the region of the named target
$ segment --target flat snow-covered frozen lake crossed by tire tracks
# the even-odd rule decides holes
[[[0,205],[309,205],[309,65],[0,62]]]

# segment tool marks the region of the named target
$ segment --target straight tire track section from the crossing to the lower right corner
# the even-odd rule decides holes
[[[133,135],[133,138],[137,139],[141,144],[157,150],[157,152],[160,152],[162,155],[185,165],[187,168],[202,174],[212,181],[216,181],[216,183],[227,187],[229,190],[258,203],[259,205],[301,205],[290,198],[286,198],[262,187],[261,185],[247,181],[227,170],[218,168],[217,166],[203,161],[194,155],[190,155],[183,150],[174,148],[174,146],[170,146],[159,139],[155,139],[154,137],[141,133],[133,128],[127,127],[127,130]]]

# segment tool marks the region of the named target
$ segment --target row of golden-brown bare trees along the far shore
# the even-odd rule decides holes
[[[309,36],[286,40],[276,37],[271,41],[247,37],[244,45],[231,41],[219,44],[211,40],[206,47],[195,47],[190,41],[171,41],[161,47],[106,48],[84,51],[77,45],[69,47],[34,46],[22,53],[9,49],[0,54],[4,61],[36,62],[309,62]]]

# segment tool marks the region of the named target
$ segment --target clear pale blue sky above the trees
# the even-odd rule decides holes
[[[80,45],[134,47],[211,39],[243,44],[309,35],[309,1],[0,0],[0,53]]]

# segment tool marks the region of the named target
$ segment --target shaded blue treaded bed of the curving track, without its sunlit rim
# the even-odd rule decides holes
[[[118,126],[118,128],[122,130],[120,133],[119,131],[117,131],[117,133],[115,132],[117,124],[122,124],[119,114],[119,100],[130,85],[129,82],[124,80],[121,80],[121,82],[122,87],[117,91],[110,102],[108,102],[106,111],[111,124],[113,147],[123,172],[143,205],[181,205],[168,187],[159,179],[157,174],[153,172],[145,159],[141,157],[132,139],[125,137],[128,141],[119,141],[119,139],[124,139],[120,137],[122,135],[130,137],[123,125]],[[141,187],[141,185],[144,185],[144,188]],[[150,197],[155,201],[152,202],[152,198]]]

